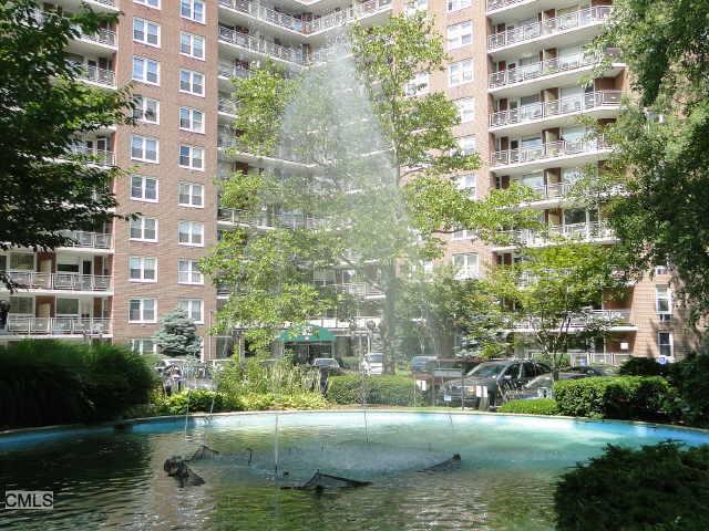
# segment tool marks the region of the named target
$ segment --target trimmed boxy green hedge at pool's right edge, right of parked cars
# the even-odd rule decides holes
[[[649,421],[671,419],[675,391],[659,376],[593,377],[556,382],[561,415]]]

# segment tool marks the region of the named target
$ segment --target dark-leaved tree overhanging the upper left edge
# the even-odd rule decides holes
[[[72,138],[130,122],[126,91],[102,91],[80,81],[65,46],[94,33],[114,15],[84,8],[45,11],[33,0],[0,3],[0,248],[52,249],[65,230],[111,220],[116,168],[71,154]],[[7,279],[3,279],[7,281]]]

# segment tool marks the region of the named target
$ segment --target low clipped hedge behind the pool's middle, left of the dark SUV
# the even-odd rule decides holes
[[[336,404],[383,404],[414,406],[423,403],[423,394],[409,376],[330,376],[327,396]]]

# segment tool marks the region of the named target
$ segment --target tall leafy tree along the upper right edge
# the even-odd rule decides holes
[[[635,95],[605,131],[619,249],[638,277],[674,267],[695,317],[709,312],[708,32],[706,0],[620,0],[598,43],[618,46]]]

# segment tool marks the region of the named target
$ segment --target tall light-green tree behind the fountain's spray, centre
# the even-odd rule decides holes
[[[466,219],[471,211],[517,214],[470,200],[449,177],[476,168],[477,157],[462,153],[452,135],[453,103],[442,93],[417,94],[421,86],[411,83],[445,59],[423,14],[356,25],[351,44],[342,41],[297,76],[267,65],[235,81],[235,149],[291,163],[225,183],[222,205],[243,212],[243,229],[226,235],[203,267],[238,287],[217,327],[238,324],[263,351],[286,323],[302,325],[327,310],[371,315],[362,290],[383,293],[379,327],[391,369],[401,270],[440,256],[440,233],[459,222],[453,211]],[[275,230],[257,229],[264,217]],[[327,270],[346,272],[317,287]]]

